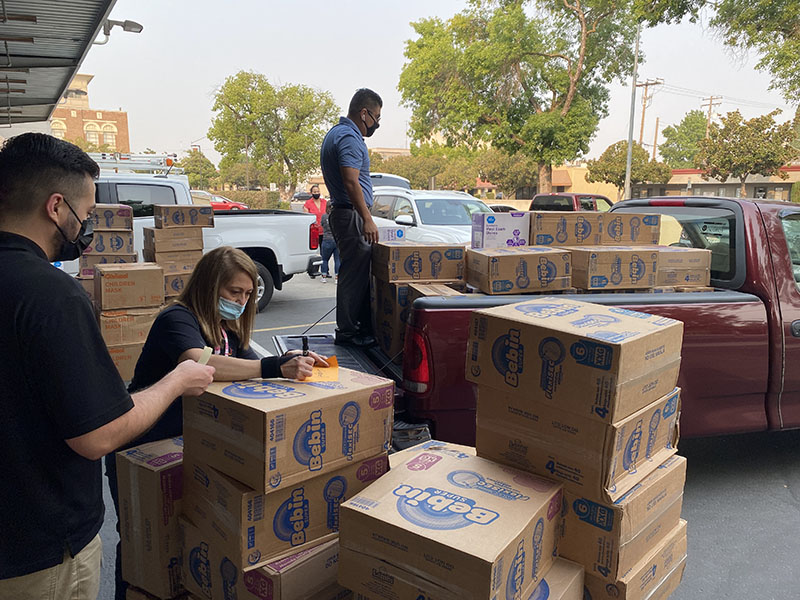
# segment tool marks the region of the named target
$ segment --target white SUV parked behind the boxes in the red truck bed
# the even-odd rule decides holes
[[[378,227],[408,226],[410,242],[469,245],[472,215],[492,209],[466,192],[385,186],[373,190],[370,212]]]

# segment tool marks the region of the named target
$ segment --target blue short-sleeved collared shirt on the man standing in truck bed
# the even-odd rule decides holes
[[[372,206],[369,151],[364,143],[364,137],[353,121],[347,117],[339,117],[339,123],[331,128],[322,141],[319,162],[333,206],[353,204],[345,190],[340,167],[358,169],[358,182],[364,193],[364,201],[367,206]]]

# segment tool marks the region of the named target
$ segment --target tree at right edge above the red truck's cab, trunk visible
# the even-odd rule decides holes
[[[701,140],[695,166],[703,169],[703,178],[726,181],[735,177],[741,182],[741,195],[750,175],[770,177],[788,175],[779,169],[797,158],[791,122],[777,124],[780,110],[745,121],[738,110],[722,117],[722,124],[711,124],[708,138]]]

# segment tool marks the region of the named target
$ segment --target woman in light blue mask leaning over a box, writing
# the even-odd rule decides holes
[[[308,356],[294,351],[259,358],[250,348],[257,310],[253,294],[257,278],[255,264],[241,250],[222,246],[204,255],[177,301],[153,323],[128,390],[135,392],[152,385],[181,361],[198,360],[206,346],[213,350],[208,364],[216,369],[216,381],[257,377],[302,380],[311,375],[315,363],[327,366],[325,359],[313,352]],[[182,402],[177,398],[153,428],[130,446],[182,433]],[[114,454],[106,456],[106,475],[119,514]],[[116,598],[124,599],[126,587],[121,579],[117,546]]]

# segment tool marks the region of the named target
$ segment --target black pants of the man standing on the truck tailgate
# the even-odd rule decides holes
[[[353,209],[335,206],[328,218],[342,263],[336,288],[337,333],[371,335],[369,272],[372,247],[364,240],[364,220]]]

